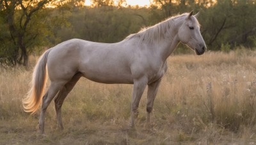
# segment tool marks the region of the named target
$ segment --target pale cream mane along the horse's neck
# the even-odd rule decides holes
[[[161,41],[161,39],[164,38],[164,34],[166,34],[166,31],[168,29],[172,28],[174,24],[174,20],[184,17],[188,15],[188,13],[183,13],[182,15],[177,15],[175,17],[170,17],[164,20],[163,22],[159,22],[156,25],[150,26],[150,27],[144,27],[136,34],[131,34],[127,36],[125,39],[131,39],[134,37],[140,38],[140,42],[152,42],[152,41]]]

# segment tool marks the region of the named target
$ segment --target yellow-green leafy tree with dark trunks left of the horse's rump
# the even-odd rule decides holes
[[[44,6],[51,0],[2,0],[0,11],[0,58],[5,63],[28,66],[28,55],[47,45],[51,18]],[[64,6],[64,5],[63,5]],[[46,36],[46,37],[45,37]]]

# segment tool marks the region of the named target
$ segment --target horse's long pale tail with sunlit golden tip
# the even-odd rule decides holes
[[[51,49],[47,50],[40,57],[35,66],[31,81],[31,88],[26,98],[22,100],[22,105],[25,112],[31,112],[31,114],[35,113],[42,102],[44,89],[48,78],[46,64],[49,52],[51,52]]]

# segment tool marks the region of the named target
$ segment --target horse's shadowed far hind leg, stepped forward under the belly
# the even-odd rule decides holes
[[[54,99],[55,102],[55,109],[56,109],[56,116],[57,116],[57,127],[63,129],[62,119],[61,119],[61,106],[67,97],[68,93],[74,88],[77,81],[81,78],[81,74],[75,74],[73,78],[66,83],[61,91],[58,93],[58,96],[56,99]]]

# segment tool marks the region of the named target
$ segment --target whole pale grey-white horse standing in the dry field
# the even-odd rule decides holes
[[[81,76],[99,83],[134,84],[131,103],[131,127],[141,99],[148,85],[147,120],[164,72],[166,59],[181,42],[202,55],[205,42],[200,34],[198,13],[184,13],[159,24],[131,34],[113,44],[70,39],[47,50],[38,60],[33,72],[32,86],[22,100],[24,111],[32,114],[40,107],[40,134],[44,134],[45,111],[52,99],[55,102],[58,127],[63,128],[61,106]],[[46,69],[47,66],[47,69]],[[51,85],[45,94],[47,71]]]

